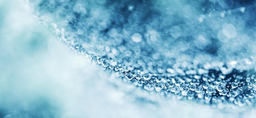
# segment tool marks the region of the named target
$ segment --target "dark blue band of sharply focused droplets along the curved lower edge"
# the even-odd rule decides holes
[[[123,81],[133,83],[150,92],[159,92],[168,97],[174,95],[178,99],[194,100],[218,108],[233,106],[255,106],[256,72],[255,70],[232,70],[223,74],[217,70],[198,68],[196,73],[177,74],[141,74],[141,71],[125,71],[119,66],[112,66],[102,59],[85,54],[85,57],[102,65],[104,69],[115,72]],[[204,71],[203,73],[198,73]],[[175,76],[173,76],[175,75]]]

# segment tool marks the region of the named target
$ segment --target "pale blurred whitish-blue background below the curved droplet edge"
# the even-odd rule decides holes
[[[239,111],[239,112],[238,112]],[[255,118],[120,81],[58,42],[23,0],[0,0],[0,118]]]

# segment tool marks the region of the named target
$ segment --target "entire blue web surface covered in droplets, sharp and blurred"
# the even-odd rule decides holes
[[[32,4],[61,42],[124,81],[219,107],[254,105],[256,15],[246,11],[254,7],[220,1],[212,10],[211,0],[162,1]]]

